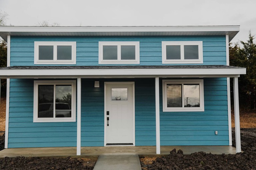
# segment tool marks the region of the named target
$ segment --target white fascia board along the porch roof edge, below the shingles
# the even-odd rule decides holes
[[[134,76],[134,77],[239,77],[246,74],[246,68],[225,69],[2,69],[0,78],[14,77],[104,77],[104,76]]]

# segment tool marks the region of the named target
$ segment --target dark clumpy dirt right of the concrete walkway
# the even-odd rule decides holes
[[[232,129],[233,142],[235,133]],[[147,170],[256,170],[256,128],[241,128],[241,148],[243,153],[216,155],[195,152],[183,155],[182,150],[172,150],[170,155],[156,158],[151,166],[142,167]]]

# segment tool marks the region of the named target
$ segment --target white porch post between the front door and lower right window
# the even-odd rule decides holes
[[[160,154],[160,111],[159,111],[159,77],[155,78],[156,91],[156,154]]]

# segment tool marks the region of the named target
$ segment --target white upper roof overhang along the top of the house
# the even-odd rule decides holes
[[[28,27],[2,26],[0,36],[223,36],[231,41],[240,26]]]

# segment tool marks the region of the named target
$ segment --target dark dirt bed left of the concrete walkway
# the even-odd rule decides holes
[[[96,162],[96,161],[95,161]],[[5,157],[0,159],[2,170],[93,170],[93,166],[86,165],[86,161],[80,158],[39,158],[39,157]]]

